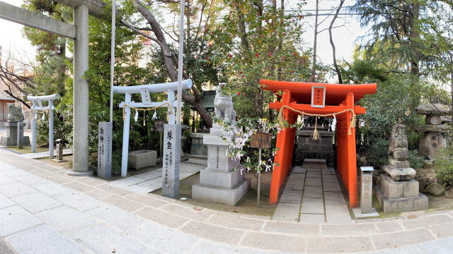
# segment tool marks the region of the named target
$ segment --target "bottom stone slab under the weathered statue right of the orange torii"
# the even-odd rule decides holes
[[[382,210],[386,214],[392,212],[413,212],[428,209],[428,197],[418,193],[415,198],[386,198],[384,191],[380,186],[374,186],[374,195],[376,195]]]

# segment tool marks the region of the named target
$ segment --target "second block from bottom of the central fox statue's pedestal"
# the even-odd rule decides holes
[[[235,171],[211,171],[203,169],[200,171],[200,184],[203,186],[215,186],[219,188],[234,188],[245,178],[245,172],[241,169]]]

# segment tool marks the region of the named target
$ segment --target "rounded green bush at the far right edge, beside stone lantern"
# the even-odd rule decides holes
[[[453,187],[453,147],[449,145],[440,152],[434,163],[436,178],[445,188]]]

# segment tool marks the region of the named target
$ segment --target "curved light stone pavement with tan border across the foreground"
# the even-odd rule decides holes
[[[0,150],[0,237],[21,254],[452,253],[452,211],[407,215],[306,224],[195,210]]]

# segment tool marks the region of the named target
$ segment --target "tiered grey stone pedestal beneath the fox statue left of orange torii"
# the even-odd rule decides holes
[[[200,183],[192,186],[192,198],[236,205],[250,186],[245,179],[245,169],[239,161],[226,157],[227,141],[218,125],[211,128],[210,135],[203,137],[207,146],[207,167],[200,171]]]

